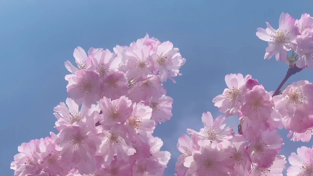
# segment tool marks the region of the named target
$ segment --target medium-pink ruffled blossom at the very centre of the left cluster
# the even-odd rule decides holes
[[[132,103],[125,96],[111,100],[106,97],[99,102],[102,114],[98,116],[100,124],[105,129],[110,129],[115,125],[126,122],[132,112]]]

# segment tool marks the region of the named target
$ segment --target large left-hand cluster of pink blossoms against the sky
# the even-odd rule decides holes
[[[162,83],[181,75],[177,48],[146,35],[130,46],[77,47],[65,76],[69,98],[54,107],[58,134],[22,143],[14,176],[161,176],[170,153],[152,133],[172,117]]]

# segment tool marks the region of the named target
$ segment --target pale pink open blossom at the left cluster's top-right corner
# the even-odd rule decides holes
[[[153,70],[160,74],[161,82],[179,75],[179,68],[185,64],[186,59],[182,59],[178,51],[178,48],[173,48],[173,44],[167,41],[160,44],[156,53],[151,55]]]

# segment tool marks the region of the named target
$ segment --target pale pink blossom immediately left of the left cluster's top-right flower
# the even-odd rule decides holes
[[[135,79],[145,79],[148,73],[152,70],[152,61],[150,56],[150,46],[142,45],[141,43],[136,45],[135,48],[129,48],[126,51],[128,60],[126,62],[126,69],[128,70],[126,75],[128,78],[134,77]]]

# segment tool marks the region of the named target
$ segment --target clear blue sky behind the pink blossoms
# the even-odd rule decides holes
[[[154,136],[172,153],[165,175],[173,175],[179,152],[177,139],[186,128],[199,130],[201,114],[221,115],[212,99],[226,88],[229,73],[250,74],[268,90],[275,90],[288,65],[275,58],[263,60],[267,43],[255,36],[264,22],[278,27],[280,13],[300,18],[313,13],[312,1],[16,1],[0,0],[0,170],[13,175],[10,162],[22,142],[46,137],[54,131],[53,107],[65,101],[66,60],[74,61],[77,46],[108,48],[129,45],[146,33],[171,41],[187,62],[177,83],[167,81],[174,99],[173,117],[158,125]],[[306,79],[303,70],[288,83]],[[228,125],[237,127],[237,117]],[[287,157],[308,143],[291,142],[280,131]]]

